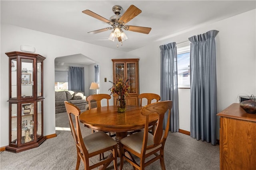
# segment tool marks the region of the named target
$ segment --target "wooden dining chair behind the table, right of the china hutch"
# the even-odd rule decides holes
[[[147,105],[151,104],[152,101],[156,101],[156,102],[160,101],[160,96],[158,94],[154,94],[154,93],[142,93],[138,96],[138,98],[140,99],[140,106],[142,106],[143,99],[147,100]],[[149,129],[149,131],[151,131],[151,133],[154,133],[155,125],[150,126],[148,129]]]

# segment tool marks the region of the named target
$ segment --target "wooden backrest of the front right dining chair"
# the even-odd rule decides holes
[[[168,131],[169,131],[171,109],[172,109],[172,101],[170,100],[149,104],[147,106],[144,106],[141,109],[141,114],[146,116],[144,138],[143,138],[144,146],[142,146],[141,153],[145,153],[147,149],[152,149],[160,144],[164,145],[168,135]],[[163,122],[164,122],[164,115],[166,111],[168,111],[168,118],[167,118],[167,124],[165,127],[165,133],[163,135]],[[150,114],[158,114],[158,123],[154,133],[154,138],[153,138],[154,145],[147,146],[148,120],[149,120]]]

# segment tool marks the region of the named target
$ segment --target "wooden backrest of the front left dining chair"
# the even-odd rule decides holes
[[[78,154],[80,154],[80,157],[85,157],[88,155],[88,150],[86,149],[84,145],[84,141],[82,138],[81,130],[80,130],[80,125],[79,125],[79,120],[78,116],[80,115],[81,111],[78,107],[76,107],[73,104],[68,103],[67,101],[64,102],[66,111],[68,113],[68,119],[69,119],[69,125],[71,129],[72,136],[74,138],[74,141],[76,143],[76,148],[78,151]],[[71,115],[74,115],[74,120],[76,122],[76,125],[74,125],[73,119]]]

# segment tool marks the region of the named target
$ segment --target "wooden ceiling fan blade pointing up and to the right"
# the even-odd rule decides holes
[[[134,5],[131,5],[126,12],[124,12],[124,14],[121,16],[121,18],[119,19],[119,23],[127,23],[130,20],[132,20],[134,17],[136,17],[137,15],[139,15],[141,13],[141,10],[139,8],[137,8]]]

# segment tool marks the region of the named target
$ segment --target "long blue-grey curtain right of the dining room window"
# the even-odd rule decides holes
[[[190,136],[216,145],[217,30],[188,38],[190,45]]]

